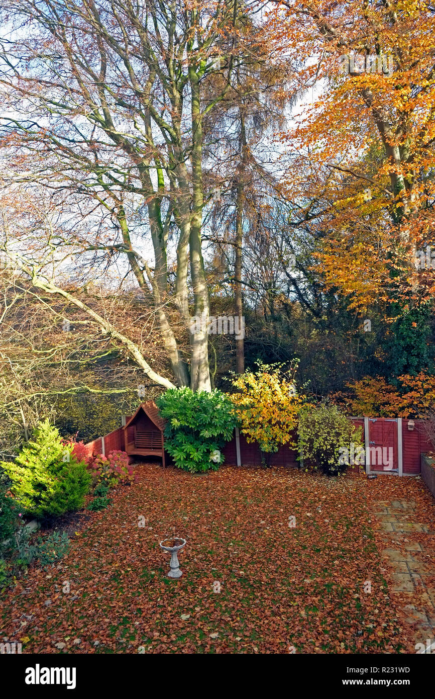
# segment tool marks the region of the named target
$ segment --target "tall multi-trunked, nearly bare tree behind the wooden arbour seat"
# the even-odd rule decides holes
[[[10,28],[1,40],[0,82],[8,104],[3,143],[34,162],[31,175],[22,169],[21,178],[71,187],[110,212],[121,243],[97,236],[89,247],[123,254],[139,286],[151,289],[175,383],[194,390],[210,389],[207,328],[191,324],[193,316],[209,315],[202,217],[211,196],[205,182],[213,185],[206,157],[213,134],[206,138],[203,124],[228,93],[237,66],[256,51],[238,30],[246,13],[237,0],[3,3]],[[258,41],[264,41],[261,34]],[[130,212],[126,201],[135,203]],[[137,217],[144,209],[154,261],[132,244],[133,212]],[[35,267],[29,273],[45,293],[73,296]],[[168,303],[189,333],[187,357],[177,346]],[[134,343],[118,339],[138,361]],[[172,385],[141,361],[154,381]]]

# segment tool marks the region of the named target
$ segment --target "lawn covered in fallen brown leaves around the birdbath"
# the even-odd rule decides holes
[[[415,652],[380,570],[370,502],[389,489],[415,498],[421,482],[136,470],[61,565],[31,568],[3,595],[0,637],[28,653]],[[173,533],[187,539],[179,580],[158,547]]]

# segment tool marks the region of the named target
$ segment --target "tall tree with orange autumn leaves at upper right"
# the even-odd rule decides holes
[[[434,294],[415,252],[434,244],[435,14],[420,0],[276,0],[270,17],[312,99],[283,134],[289,227],[358,312]]]

